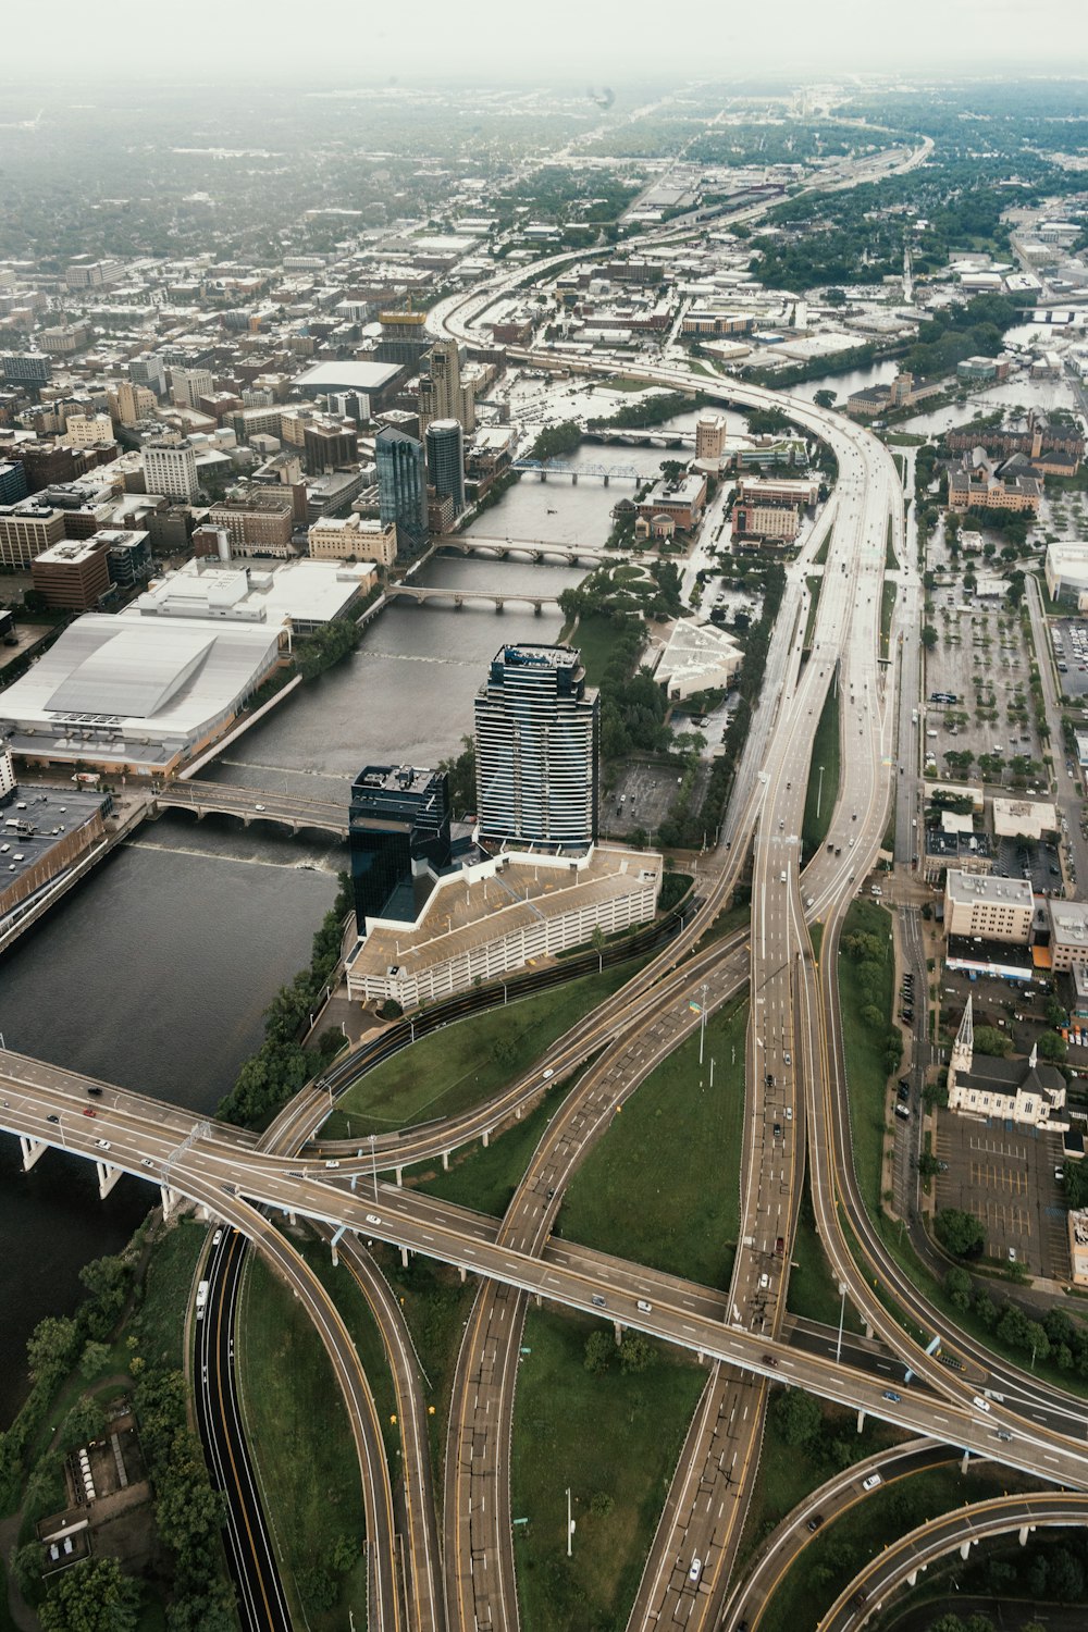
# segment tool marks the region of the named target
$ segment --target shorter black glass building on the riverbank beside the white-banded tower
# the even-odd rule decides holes
[[[450,862],[450,795],[440,770],[365,765],[351,788],[351,880],[356,922],[414,924]]]

